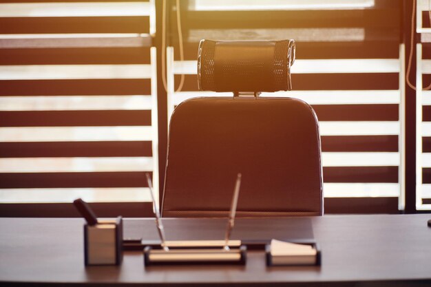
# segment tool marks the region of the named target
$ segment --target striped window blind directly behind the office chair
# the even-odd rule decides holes
[[[401,2],[355,1],[349,7],[338,1],[269,2],[255,1],[249,6],[182,2],[185,61],[180,61],[178,53],[177,13],[171,10],[169,114],[193,96],[231,96],[198,92],[200,39],[295,39],[293,91],[262,96],[301,98],[315,109],[322,136],[326,211],[402,210],[405,61],[399,41]],[[176,92],[180,76],[185,83]]]

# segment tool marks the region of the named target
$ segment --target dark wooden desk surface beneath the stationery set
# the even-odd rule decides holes
[[[431,286],[431,228],[421,215],[326,215],[311,217],[322,266],[272,267],[264,253],[249,251],[246,266],[152,266],[138,251],[121,266],[83,260],[83,220],[0,218],[0,284],[98,283],[103,286]],[[242,219],[233,237],[282,234],[286,218]],[[165,219],[167,237],[222,237],[224,220]],[[156,240],[154,220],[126,228]],[[133,227],[135,226],[135,227]],[[138,226],[138,227],[136,227]]]

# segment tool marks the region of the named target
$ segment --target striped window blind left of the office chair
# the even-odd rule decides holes
[[[1,1],[0,202],[158,192],[151,1]]]

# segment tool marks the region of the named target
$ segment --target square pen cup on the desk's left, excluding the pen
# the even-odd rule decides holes
[[[85,266],[119,265],[123,251],[123,218],[84,226]]]

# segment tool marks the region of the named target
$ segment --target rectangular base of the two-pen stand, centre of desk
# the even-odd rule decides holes
[[[235,248],[202,248],[189,246],[187,248],[153,249],[144,248],[144,264],[171,265],[171,264],[238,264],[246,263],[246,246]]]

